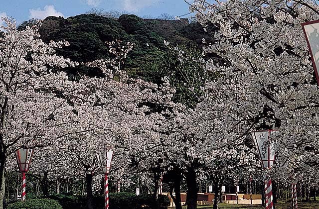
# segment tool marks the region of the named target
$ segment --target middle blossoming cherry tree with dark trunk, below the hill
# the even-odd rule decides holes
[[[108,44],[114,59],[86,64],[100,68],[105,77],[83,77],[79,80],[77,85],[81,91],[70,98],[73,112],[69,117],[76,122],[65,125],[67,134],[61,132],[64,137],[55,141],[58,151],[64,152],[64,155],[68,153],[66,165],[77,169],[86,178],[88,208],[93,207],[92,178],[99,172],[96,154],[113,148],[115,157],[122,158],[117,163],[117,169],[130,162],[122,156],[129,156],[132,160],[132,157],[146,154],[145,158],[143,156],[144,162],[153,162],[146,151],[158,146],[154,146],[159,139],[152,129],[156,128],[162,116],[153,112],[152,108],[158,104],[172,104],[168,85],[159,87],[150,82],[130,79],[121,70],[122,60],[133,44],[127,43],[123,47],[117,46],[119,41]]]

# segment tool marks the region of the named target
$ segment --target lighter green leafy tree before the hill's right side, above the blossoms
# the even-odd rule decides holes
[[[203,96],[203,87],[213,77],[204,70],[205,60],[201,50],[168,46],[160,66],[160,77],[169,78],[175,88],[173,100],[194,108]]]

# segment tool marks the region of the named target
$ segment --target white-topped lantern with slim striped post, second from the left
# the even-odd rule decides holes
[[[108,182],[108,174],[111,168],[113,151],[108,150],[105,153],[97,154],[97,159],[100,162],[100,166],[102,172],[104,173],[104,207],[105,209],[109,209],[109,182]]]

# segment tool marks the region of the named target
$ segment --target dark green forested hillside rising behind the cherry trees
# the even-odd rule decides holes
[[[34,20],[29,20],[19,27],[22,29],[33,23]],[[131,78],[142,78],[156,84],[167,77],[176,89],[174,101],[194,107],[201,98],[203,79],[207,79],[200,76],[205,74],[202,72],[205,59],[201,51],[202,41],[204,38],[206,43],[212,42],[212,30],[205,32],[199,23],[189,23],[188,19],[142,19],[127,14],[111,18],[81,14],[67,19],[47,17],[39,32],[46,43],[67,40],[70,46],[57,49],[57,54],[79,63],[111,58],[106,41],[118,39],[122,44],[134,43],[121,69]],[[169,46],[164,44],[164,40],[170,43]],[[78,79],[83,74],[103,76],[100,69],[81,64],[63,71],[70,79]]]

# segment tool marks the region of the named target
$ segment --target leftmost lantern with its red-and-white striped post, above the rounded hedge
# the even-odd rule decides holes
[[[25,200],[25,173],[29,170],[29,165],[31,163],[31,157],[33,154],[33,149],[18,149],[15,152],[16,161],[18,163],[19,171],[22,173],[22,194],[21,194],[21,201]]]

